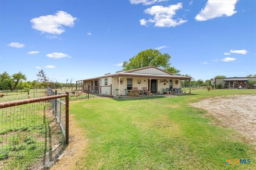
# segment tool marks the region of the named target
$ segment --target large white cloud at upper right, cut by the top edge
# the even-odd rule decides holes
[[[204,9],[196,15],[197,21],[206,21],[222,16],[232,16],[237,0],[208,0]]]

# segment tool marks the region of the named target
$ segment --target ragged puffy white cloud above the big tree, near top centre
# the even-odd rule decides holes
[[[173,19],[176,14],[176,10],[182,8],[182,3],[177,3],[176,5],[170,5],[168,7],[164,6],[152,6],[144,10],[146,14],[154,16],[149,20],[140,20],[140,25],[148,26],[148,23],[154,23],[155,27],[175,27],[188,20],[182,20],[181,18]]]

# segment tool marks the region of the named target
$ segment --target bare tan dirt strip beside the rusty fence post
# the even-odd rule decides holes
[[[69,144],[66,147],[63,157],[54,164],[51,170],[71,170],[74,169],[76,163],[84,157],[84,148],[87,140],[82,130],[76,126],[74,115],[70,115],[69,126]]]

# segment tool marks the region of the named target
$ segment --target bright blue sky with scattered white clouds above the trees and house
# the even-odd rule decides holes
[[[159,49],[196,80],[256,74],[255,0],[0,0],[0,73],[82,80]]]

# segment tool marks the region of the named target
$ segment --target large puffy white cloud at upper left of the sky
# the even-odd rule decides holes
[[[40,16],[30,20],[32,28],[42,33],[61,34],[65,31],[63,26],[73,27],[77,18],[64,11],[57,11],[55,15]],[[63,25],[63,26],[62,26]]]

